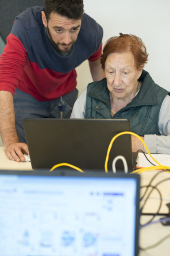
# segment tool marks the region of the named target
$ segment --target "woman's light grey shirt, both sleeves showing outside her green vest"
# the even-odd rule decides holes
[[[138,93],[138,92],[137,92]],[[85,118],[87,88],[76,100],[70,118]],[[161,135],[150,134],[144,136],[144,141],[150,153],[170,154],[170,96],[162,102],[159,112],[158,129]]]

